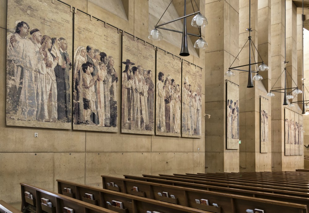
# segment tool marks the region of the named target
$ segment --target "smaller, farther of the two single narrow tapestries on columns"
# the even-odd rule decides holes
[[[268,152],[269,125],[268,125],[268,99],[260,96],[260,152]]]

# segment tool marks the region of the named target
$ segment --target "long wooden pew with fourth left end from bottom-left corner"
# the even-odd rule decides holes
[[[101,175],[102,182],[103,182],[103,188],[108,188],[107,183],[114,182],[117,184],[120,188],[120,190],[127,194],[136,194],[138,196],[144,196],[146,198],[150,199],[160,199],[160,196],[157,196],[157,192],[168,192],[169,194],[173,195],[181,195],[176,196],[181,197],[178,199],[179,204],[183,206],[190,206],[189,200],[194,201],[196,198],[201,197],[200,194],[204,194],[204,198],[209,199],[211,203],[220,203],[221,200],[224,200],[224,197],[226,194],[233,194],[233,195],[241,195],[241,196],[249,196],[254,198],[263,198],[263,199],[270,199],[270,200],[276,200],[276,201],[284,201],[288,203],[298,203],[298,204],[304,204],[307,205],[307,208],[309,208],[309,198],[308,194],[304,194],[304,197],[297,197],[297,196],[291,196],[291,195],[282,195],[282,194],[273,194],[273,193],[265,193],[265,192],[259,192],[259,191],[250,191],[250,190],[233,190],[233,189],[223,189],[224,192],[222,192],[222,187],[220,193],[221,195],[216,197],[218,193],[211,193],[210,190],[207,190],[207,187],[205,186],[198,186],[198,189],[192,189],[188,188],[189,185],[186,187],[180,187],[180,186],[171,186],[171,185],[163,185],[159,183],[152,183],[152,182],[144,182],[144,181],[137,181],[137,180],[130,180],[130,179],[124,179],[119,177],[110,177],[110,176],[104,176]],[[138,190],[141,191],[139,193],[136,193],[132,191],[133,186],[137,186]],[[212,190],[215,191],[215,190]],[[183,196],[185,195],[185,196]],[[189,198],[188,196],[192,196],[192,198]],[[238,197],[233,198],[239,199]],[[233,199],[231,200],[231,203],[233,203]],[[243,203],[245,203],[244,201]],[[240,202],[242,203],[242,202]],[[194,202],[195,204],[195,202]],[[222,205],[221,205],[222,206]],[[192,206],[190,206],[192,207]],[[225,207],[225,206],[224,206]],[[222,206],[222,210],[224,211],[224,207]],[[227,209],[231,209],[231,206],[227,205]]]

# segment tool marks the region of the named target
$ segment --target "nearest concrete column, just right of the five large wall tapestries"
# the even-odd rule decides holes
[[[238,54],[239,1],[205,3],[205,172],[239,172],[239,150],[226,149],[226,83],[224,73]],[[238,65],[236,60],[234,65]],[[232,79],[239,83],[238,73]]]

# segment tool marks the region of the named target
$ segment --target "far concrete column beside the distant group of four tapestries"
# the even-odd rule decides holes
[[[287,0],[287,9],[292,8],[290,12],[290,30],[287,29],[287,36],[293,36],[292,26],[296,26],[296,19],[293,19],[293,3]],[[290,7],[288,4],[290,3]],[[284,42],[284,32],[285,32],[285,1],[281,0],[271,0],[271,47],[272,47],[272,69],[271,69],[271,82],[273,90],[284,88],[284,75],[281,75],[285,61],[285,42]],[[296,14],[295,14],[296,15]],[[287,19],[288,24],[288,19]],[[288,33],[290,32],[290,33]],[[289,41],[289,45],[293,45],[292,38]],[[288,45],[287,45],[288,46]],[[295,43],[296,46],[296,43]],[[292,53],[293,48],[290,48]],[[289,53],[290,54],[290,53]],[[294,69],[293,64],[297,63],[296,57],[293,54],[289,55],[289,59],[292,64],[289,69]],[[295,66],[295,65],[294,65]],[[280,76],[281,75],[281,76]],[[292,73],[291,73],[292,75]],[[279,77],[280,76],[280,77]],[[295,76],[296,78],[296,76]],[[275,84],[275,82],[277,83]],[[275,84],[275,85],[274,85]],[[289,86],[291,83],[289,84]],[[303,156],[285,156],[284,155],[284,106],[283,103],[283,93],[275,93],[275,97],[272,98],[272,161],[273,161],[273,171],[293,171],[297,168],[303,167]]]

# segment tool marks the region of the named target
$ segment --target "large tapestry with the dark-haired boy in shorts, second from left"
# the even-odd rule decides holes
[[[118,131],[120,35],[83,13],[74,15],[73,129]]]

